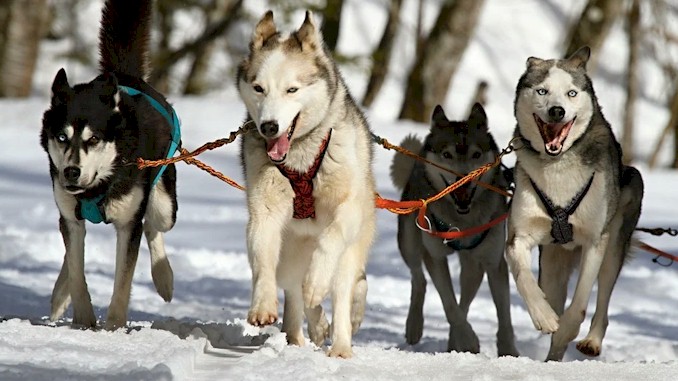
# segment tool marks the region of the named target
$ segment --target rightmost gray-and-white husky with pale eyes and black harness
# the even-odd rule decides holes
[[[600,354],[608,304],[640,216],[643,180],[622,152],[586,73],[590,49],[530,57],[516,90],[516,190],[506,258],[535,328],[553,334],[547,360],[560,361],[579,333],[598,280],[596,311],[577,349]],[[539,283],[531,270],[539,246]],[[579,269],[565,309],[567,285]]]

